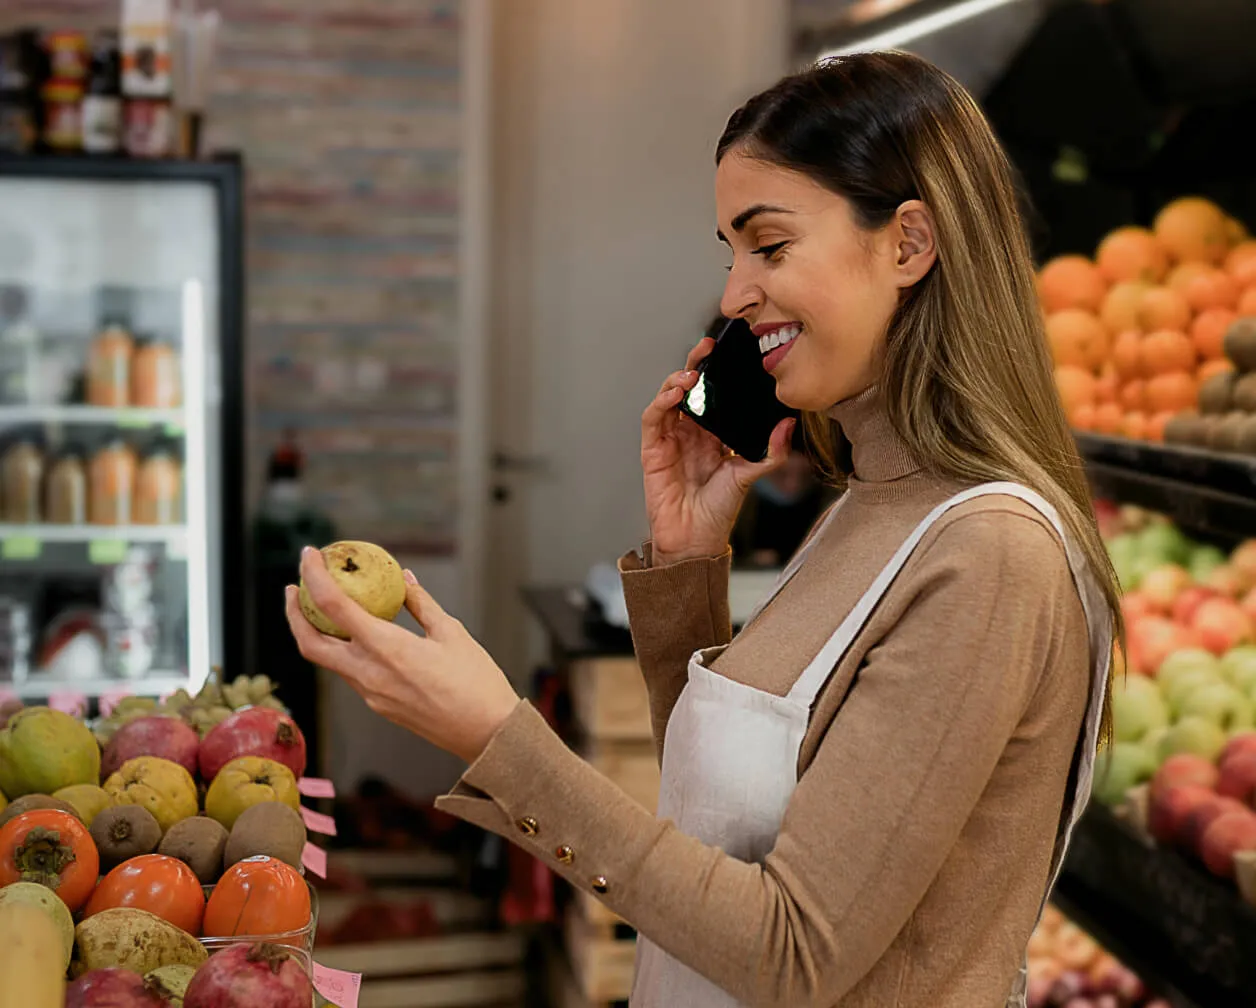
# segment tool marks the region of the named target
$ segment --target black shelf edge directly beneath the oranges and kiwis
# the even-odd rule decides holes
[[[1256,457],[1078,434],[1099,497],[1168,515],[1189,531],[1256,536]]]

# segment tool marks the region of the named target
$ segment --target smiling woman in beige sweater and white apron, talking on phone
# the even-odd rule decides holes
[[[1089,792],[1118,621],[1056,399],[1009,167],[927,63],[864,54],[736,112],[721,309],[761,338],[847,493],[730,643],[728,532],[786,454],[646,409],[652,541],[620,561],[663,764],[658,818],[569,752],[411,580],[414,639],[303,574],[353,643],[306,657],[471,761],[441,807],[641,934],[637,1005],[1021,1004]],[[777,345],[780,344],[780,345]]]

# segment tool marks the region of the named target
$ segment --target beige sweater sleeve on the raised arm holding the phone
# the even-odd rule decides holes
[[[732,551],[720,556],[652,566],[651,544],[644,556],[619,560],[619,577],[628,606],[633,651],[649,694],[649,718],[659,758],[672,707],[685,688],[690,655],[700,648],[727,644],[728,570]]]

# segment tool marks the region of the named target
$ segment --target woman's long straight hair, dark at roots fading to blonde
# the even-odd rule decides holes
[[[879,383],[889,419],[932,472],[1042,495],[1084,552],[1122,640],[1117,574],[1055,390],[1011,167],[977,103],[923,59],[863,53],[752,98],[730,118],[716,159],[735,147],[845,197],[868,228],[908,200],[928,206],[937,262],[889,325]],[[804,427],[840,480],[833,422],[805,414]],[[1110,726],[1105,703],[1104,739]]]

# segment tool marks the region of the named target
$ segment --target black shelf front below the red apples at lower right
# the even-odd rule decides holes
[[[1174,1004],[1256,1004],[1256,909],[1103,806],[1078,823],[1053,899]]]

